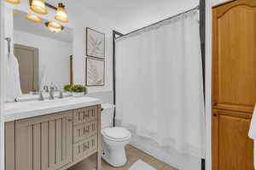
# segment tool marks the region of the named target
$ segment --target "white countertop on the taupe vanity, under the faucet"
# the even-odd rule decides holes
[[[102,104],[101,99],[89,97],[68,97],[64,99],[45,99],[44,101],[26,101],[7,103],[4,105],[4,121],[11,122],[33,116],[43,116],[60,111],[68,111]]]

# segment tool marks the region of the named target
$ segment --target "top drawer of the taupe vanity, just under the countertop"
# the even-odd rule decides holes
[[[73,124],[91,122],[97,118],[97,106],[85,107],[73,111]]]

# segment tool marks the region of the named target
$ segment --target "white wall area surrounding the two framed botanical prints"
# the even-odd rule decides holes
[[[112,31],[114,25],[102,19],[97,15],[84,16],[83,20],[75,20],[74,23],[74,38],[73,38],[73,54],[74,54],[74,82],[85,83],[85,28],[90,27],[97,31],[105,33],[106,37],[106,61],[105,61],[105,86],[103,87],[90,87],[90,92],[111,91],[113,88],[113,46],[112,46]]]

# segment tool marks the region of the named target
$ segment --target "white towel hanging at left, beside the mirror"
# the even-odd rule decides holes
[[[21,95],[19,63],[14,54],[7,56],[5,99],[15,99]]]

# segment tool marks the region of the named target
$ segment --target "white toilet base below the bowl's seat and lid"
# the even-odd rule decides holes
[[[102,158],[113,167],[122,167],[125,165],[127,158],[125,147],[109,149],[106,144],[102,144]]]

